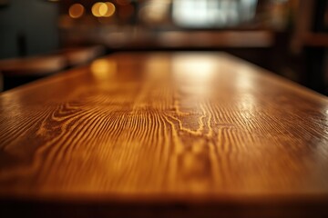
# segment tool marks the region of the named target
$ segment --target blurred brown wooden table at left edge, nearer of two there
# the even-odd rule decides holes
[[[54,74],[65,67],[67,67],[67,62],[61,55],[42,55],[0,61],[0,72],[3,74],[5,90]]]

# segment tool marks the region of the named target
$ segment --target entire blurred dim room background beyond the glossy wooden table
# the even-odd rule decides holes
[[[224,51],[328,94],[327,0],[0,0],[2,90],[118,51]]]

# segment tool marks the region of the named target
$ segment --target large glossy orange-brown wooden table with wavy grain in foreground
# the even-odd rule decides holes
[[[0,95],[0,216],[328,215],[328,99],[221,53],[113,54]]]

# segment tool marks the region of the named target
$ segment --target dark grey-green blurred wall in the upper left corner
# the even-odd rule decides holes
[[[0,58],[47,53],[58,47],[58,9],[46,0],[9,0],[0,7]]]

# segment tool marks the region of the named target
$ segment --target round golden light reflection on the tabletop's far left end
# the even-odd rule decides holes
[[[108,59],[98,59],[91,64],[90,69],[98,80],[106,80],[116,74],[117,64]]]

